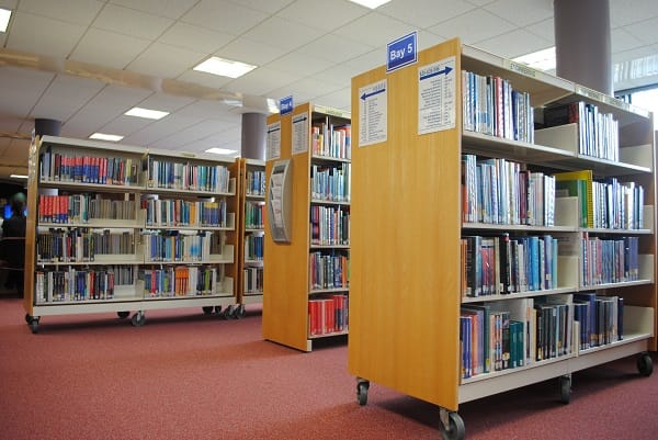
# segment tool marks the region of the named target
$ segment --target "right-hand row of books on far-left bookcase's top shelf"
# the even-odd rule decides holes
[[[148,188],[228,193],[230,171],[223,165],[175,162],[149,157]]]

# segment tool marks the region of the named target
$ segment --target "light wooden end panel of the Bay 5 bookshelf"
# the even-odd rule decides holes
[[[460,382],[461,44],[352,79],[350,373],[449,409]],[[418,69],[454,56],[455,128],[418,135]],[[387,142],[360,147],[359,89],[387,80]]]

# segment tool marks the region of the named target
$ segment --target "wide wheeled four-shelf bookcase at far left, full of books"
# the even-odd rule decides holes
[[[232,160],[44,136],[29,161],[25,319],[236,304]]]

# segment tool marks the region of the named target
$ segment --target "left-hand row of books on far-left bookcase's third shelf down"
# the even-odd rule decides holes
[[[50,228],[36,237],[38,262],[91,262],[97,255],[135,253],[132,233],[87,227]]]

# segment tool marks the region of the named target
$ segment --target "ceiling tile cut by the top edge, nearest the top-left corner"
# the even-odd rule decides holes
[[[98,15],[103,3],[105,2],[99,0],[21,0],[19,11],[87,26]]]

